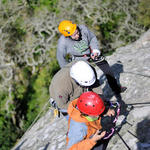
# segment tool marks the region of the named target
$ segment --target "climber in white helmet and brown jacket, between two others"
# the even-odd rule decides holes
[[[94,68],[85,61],[74,61],[53,77],[49,87],[50,103],[65,116],[69,102],[86,91],[102,94]]]

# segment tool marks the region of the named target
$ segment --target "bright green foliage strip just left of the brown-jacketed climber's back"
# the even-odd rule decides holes
[[[40,67],[38,74],[32,77],[29,88],[30,92],[26,95],[28,109],[24,130],[31,125],[43,106],[48,102],[50,81],[58,69],[59,65],[56,59],[54,59],[49,65]]]

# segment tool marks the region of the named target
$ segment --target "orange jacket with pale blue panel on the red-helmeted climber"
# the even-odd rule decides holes
[[[90,137],[102,128],[101,118],[92,122],[88,121],[76,108],[77,100],[73,100],[68,107],[67,148],[69,150],[91,150],[96,142]]]

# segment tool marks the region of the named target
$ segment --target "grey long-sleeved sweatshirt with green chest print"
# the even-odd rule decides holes
[[[72,40],[69,37],[65,37],[61,35],[58,40],[57,46],[57,60],[60,67],[64,67],[68,64],[65,59],[66,54],[71,55],[84,55],[90,54],[90,49],[98,49],[99,43],[97,41],[96,36],[84,25],[79,25],[79,29],[81,30],[82,39],[80,41]],[[76,57],[75,60],[87,60],[89,57]]]

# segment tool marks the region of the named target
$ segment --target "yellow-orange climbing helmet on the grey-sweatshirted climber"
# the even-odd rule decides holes
[[[60,22],[58,30],[64,36],[71,36],[77,28],[76,24],[73,24],[71,21],[63,20]]]

